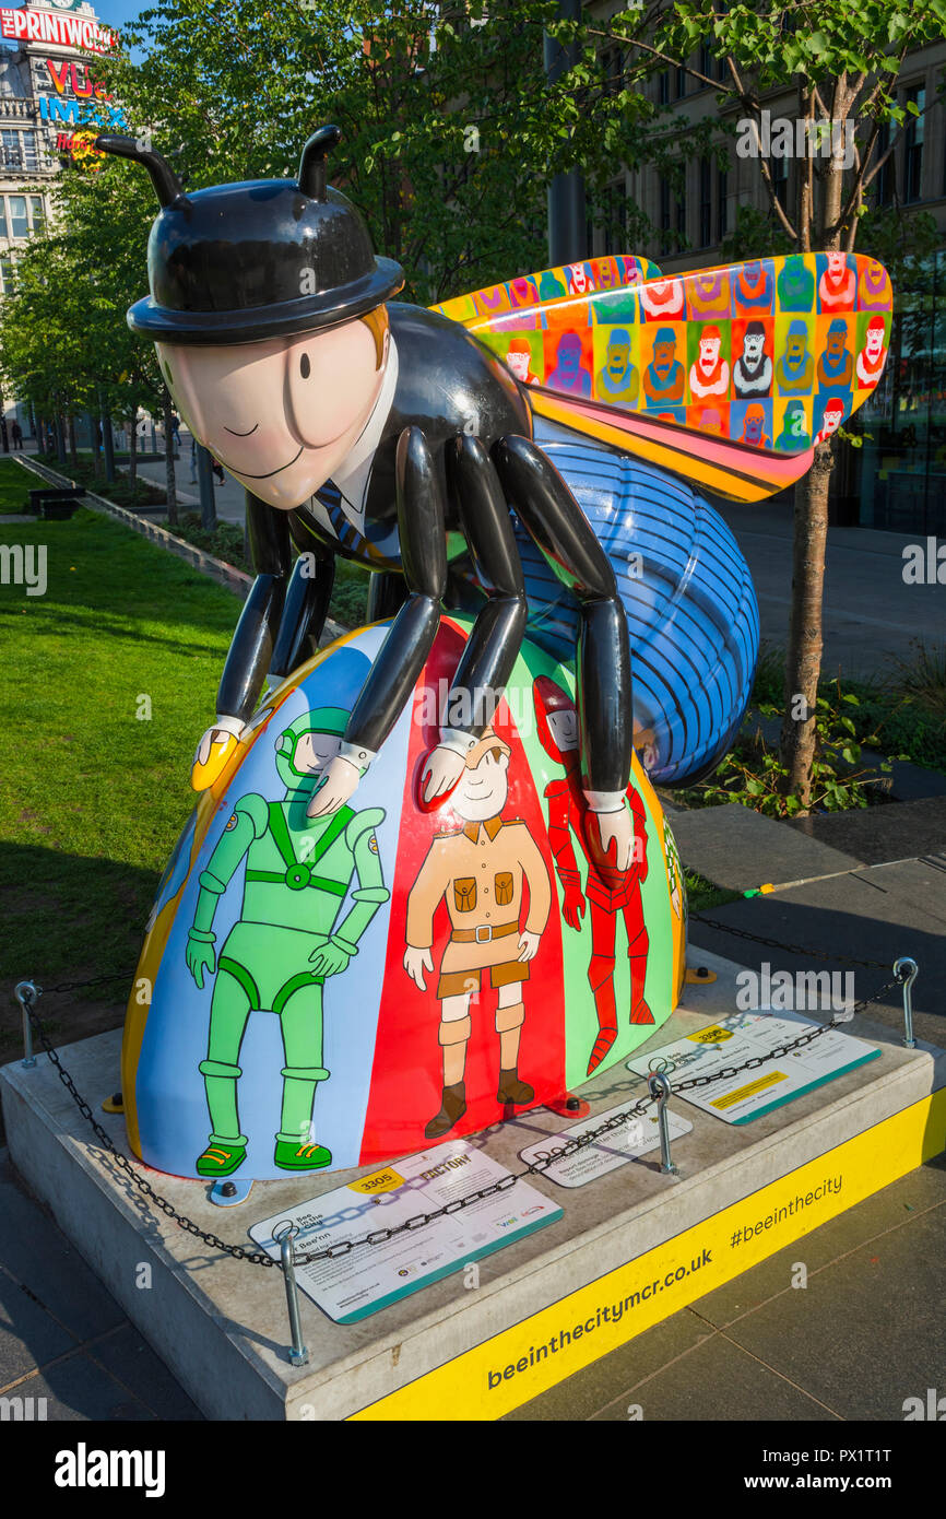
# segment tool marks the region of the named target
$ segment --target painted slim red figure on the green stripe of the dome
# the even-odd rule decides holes
[[[591,911],[592,949],[588,980],[598,1013],[598,1037],[588,1060],[588,1074],[591,1075],[618,1037],[613,981],[618,913],[624,917],[627,933],[630,1022],[653,1024],[653,1013],[644,1001],[648,937],[641,901],[641,881],[647,880],[647,813],[644,802],[630,785],[627,799],[633,814],[633,858],[630,869],[618,870],[601,849],[597,817],[588,810],[582,791],[579,714],[574,702],[560,685],[544,674],[538,676],[533,684],[533,699],[539,741],[550,760],[565,766],[565,775],[559,781],[550,781],[545,787],[548,842],[565,892],[562,913],[568,927],[577,930],[585,916],[586,902]],[[582,876],[571,842],[572,832],[588,861],[585,893],[582,893]]]

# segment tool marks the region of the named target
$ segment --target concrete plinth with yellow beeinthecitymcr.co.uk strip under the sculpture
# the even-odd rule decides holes
[[[718,980],[685,989],[654,1048],[735,1010],[738,968],[698,958]],[[677,1177],[656,1153],[577,1189],[530,1177],[563,1217],[481,1261],[474,1290],[460,1271],[348,1326],[302,1297],[299,1369],[279,1271],[222,1255],[153,1208],[43,1056],[32,1071],[5,1066],[0,1094],[15,1167],[210,1417],[495,1419],[946,1148],[946,1056],[903,1050],[862,1018],[846,1027],[881,1057],[752,1124],[673,1098],[692,1123],[674,1145]],[[115,1089],[118,1047],[112,1033],[62,1051],[94,1107]],[[580,1091],[594,1115],[644,1083],[618,1068]],[[100,1121],[123,1148],[123,1120]],[[536,1109],[474,1142],[518,1171],[518,1151],[565,1124]],[[138,1170],[202,1229],[251,1246],[255,1221],[377,1167],[257,1183],[232,1209],[214,1208],[205,1183]]]

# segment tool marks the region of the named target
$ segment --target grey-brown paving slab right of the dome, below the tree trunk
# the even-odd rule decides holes
[[[683,864],[730,892],[768,881],[808,881],[856,870],[864,863],[856,854],[808,838],[739,802],[676,813],[673,832]]]

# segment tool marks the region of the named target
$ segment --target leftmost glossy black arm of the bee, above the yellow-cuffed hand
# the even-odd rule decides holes
[[[252,717],[270,668],[292,564],[285,513],[260,501],[252,491],[246,492],[246,535],[257,579],[243,605],[217,691],[217,714],[241,723]]]

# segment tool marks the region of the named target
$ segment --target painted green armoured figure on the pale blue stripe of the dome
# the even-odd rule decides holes
[[[348,718],[342,708],[323,706],[279,735],[276,769],[287,787],[284,801],[241,796],[200,875],[187,965],[203,990],[203,974],[214,972],[217,902],[246,857],[243,908],[216,966],[207,1060],[200,1062],[211,1121],[210,1144],[197,1159],[200,1176],[231,1176],[246,1159],[248,1138],[237,1109],[238,1059],[249,1015],[260,1010],[279,1016],[285,1053],[275,1164],[284,1171],[316,1171],[331,1162],[330,1150],[311,1142],[316,1086],[330,1075],[322,1063],[322,987],[346,969],[390,896],[375,837],[384,820],[380,807],[305,816]],[[337,922],[355,876],[352,905]]]

